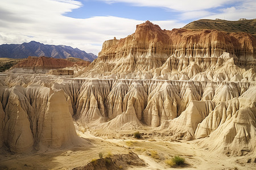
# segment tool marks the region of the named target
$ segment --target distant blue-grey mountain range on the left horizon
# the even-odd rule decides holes
[[[53,58],[81,58],[92,62],[96,55],[86,53],[78,48],[65,45],[47,45],[36,41],[24,42],[22,44],[0,45],[0,58],[27,58],[28,56],[46,56]]]

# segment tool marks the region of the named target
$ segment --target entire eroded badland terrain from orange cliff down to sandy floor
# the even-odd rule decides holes
[[[255,58],[250,33],[167,31],[147,21],[105,41],[89,66],[68,65],[73,76],[7,71],[0,168],[82,169],[111,151],[109,169],[164,169],[174,155],[188,169],[254,169]]]

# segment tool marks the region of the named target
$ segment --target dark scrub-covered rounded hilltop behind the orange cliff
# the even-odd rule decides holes
[[[247,32],[256,36],[256,19],[240,19],[236,21],[222,19],[200,19],[193,21],[185,29],[217,29],[226,32]]]

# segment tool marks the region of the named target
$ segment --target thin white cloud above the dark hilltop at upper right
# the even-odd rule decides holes
[[[162,7],[180,12],[180,20],[229,19],[240,18],[253,19],[256,16],[255,0],[100,0],[106,3],[130,3],[134,6]],[[225,7],[226,5],[232,7]],[[219,9],[218,11],[216,11]],[[214,11],[214,12],[213,12]]]

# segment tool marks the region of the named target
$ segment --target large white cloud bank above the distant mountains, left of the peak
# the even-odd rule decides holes
[[[39,41],[44,44],[63,44],[98,54],[105,40],[126,37],[135,31],[142,20],[97,16],[75,19],[63,16],[79,8],[77,1],[9,0],[0,2],[0,44],[21,44]],[[11,10],[10,10],[11,7]],[[171,29],[178,22],[155,22]]]

